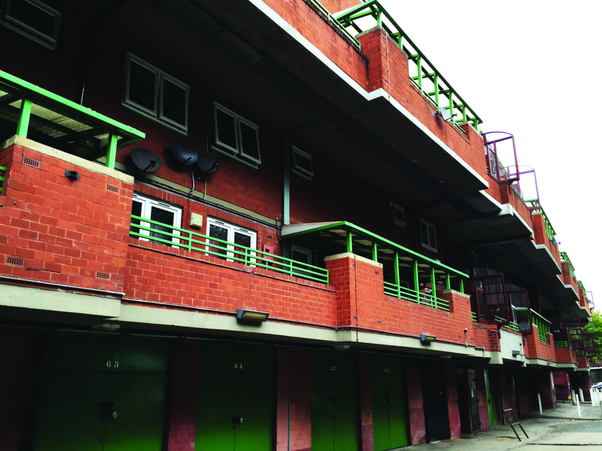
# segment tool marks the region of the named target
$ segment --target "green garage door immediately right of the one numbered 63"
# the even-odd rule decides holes
[[[399,357],[370,358],[374,451],[408,445],[408,403]]]

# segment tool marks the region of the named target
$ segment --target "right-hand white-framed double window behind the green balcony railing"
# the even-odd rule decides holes
[[[207,235],[216,238],[216,240],[209,241],[210,244],[219,246],[219,248],[207,247],[208,250],[237,259],[244,259],[243,247],[255,249],[257,246],[257,232],[215,218],[207,218]],[[234,245],[222,241],[228,241]],[[250,261],[254,262],[255,260]]]

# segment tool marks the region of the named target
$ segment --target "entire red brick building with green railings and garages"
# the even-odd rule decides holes
[[[514,138],[378,2],[1,14],[2,450],[380,451],[588,396]]]

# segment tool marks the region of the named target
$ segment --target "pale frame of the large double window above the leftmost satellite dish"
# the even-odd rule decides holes
[[[145,108],[139,103],[134,102],[134,100],[129,99],[129,85],[130,85],[130,76],[131,76],[131,65],[132,61],[140,66],[144,67],[151,72],[155,73],[155,92],[154,92],[154,107],[153,109]],[[164,82],[169,81],[174,85],[182,88],[185,92],[184,99],[184,124],[180,124],[166,116],[163,115],[163,94],[164,94]],[[126,106],[129,109],[134,110],[138,114],[143,115],[149,119],[154,120],[170,129],[176,130],[177,132],[184,133],[184,135],[188,135],[188,105],[190,104],[190,86],[185,83],[182,83],[176,78],[173,78],[171,75],[163,72],[163,70],[157,69],[157,67],[152,66],[152,64],[147,63],[144,60],[132,55],[128,52],[126,55],[126,63],[125,63],[125,88],[123,90],[123,106]]]

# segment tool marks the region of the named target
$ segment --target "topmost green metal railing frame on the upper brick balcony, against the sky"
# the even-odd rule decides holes
[[[365,22],[362,19],[369,17],[372,17],[376,23],[370,20],[371,23],[368,26],[361,28],[362,22]],[[394,43],[408,56],[408,62],[412,63],[409,64],[410,79],[420,92],[426,95],[426,98],[439,110],[447,109],[450,116],[452,116],[450,120],[462,133],[464,133],[464,130],[459,127],[458,123],[470,123],[478,130],[479,124],[483,121],[452,88],[452,85],[445,80],[429,59],[424,56],[402,28],[397,25],[397,22],[382,7],[379,1],[365,1],[361,5],[339,14],[336,19],[345,28],[351,27],[358,33],[373,28],[374,25],[384,29]],[[459,119],[456,120],[454,115],[458,115]]]

